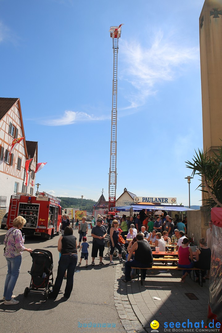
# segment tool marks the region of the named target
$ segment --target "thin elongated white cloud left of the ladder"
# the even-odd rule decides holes
[[[61,116],[60,118],[44,120],[41,123],[43,125],[48,125],[48,126],[63,126],[63,125],[74,124],[80,121],[82,122],[101,121],[101,120],[108,120],[110,118],[111,118],[110,115],[96,117],[94,115],[89,115],[86,112],[75,112],[75,111],[66,110],[64,115]]]

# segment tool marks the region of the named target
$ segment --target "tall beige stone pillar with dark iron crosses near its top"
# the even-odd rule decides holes
[[[205,0],[200,14],[203,151],[222,145],[222,0]]]

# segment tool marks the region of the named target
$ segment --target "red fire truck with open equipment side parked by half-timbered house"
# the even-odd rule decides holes
[[[24,193],[12,195],[6,225],[11,228],[13,220],[21,215],[26,219],[22,233],[50,239],[59,235],[62,221],[60,202],[60,199],[45,192],[38,193],[37,196]]]

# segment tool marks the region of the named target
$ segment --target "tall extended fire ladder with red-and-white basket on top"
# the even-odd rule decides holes
[[[112,119],[110,144],[110,172],[109,172],[109,210],[115,206],[116,198],[116,128],[117,128],[117,58],[118,40],[121,34],[121,25],[110,27],[110,37],[113,48],[113,79],[112,79]]]

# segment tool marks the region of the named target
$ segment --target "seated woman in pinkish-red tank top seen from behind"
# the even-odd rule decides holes
[[[178,267],[180,268],[193,268],[193,252],[189,245],[189,240],[183,238],[182,245],[178,248]],[[185,277],[188,275],[189,271],[184,269],[183,276],[181,277],[181,282],[184,282]]]

